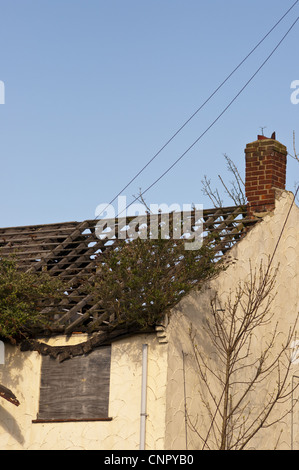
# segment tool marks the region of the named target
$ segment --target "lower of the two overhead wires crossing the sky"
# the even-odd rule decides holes
[[[298,0],[299,1],[299,0]],[[138,200],[139,197],[143,196],[145,193],[147,193],[153,186],[155,186],[158,181],[160,181],[167,173],[169,173],[172,168],[179,163],[180,160],[202,139],[202,137],[219,121],[219,119],[226,113],[226,111],[232,106],[232,104],[237,100],[237,98],[243,93],[243,91],[248,87],[248,85],[252,82],[252,80],[256,77],[256,75],[262,70],[262,68],[266,65],[266,63],[269,61],[269,59],[273,56],[273,54],[276,52],[276,50],[279,48],[279,46],[283,43],[285,38],[288,36],[288,34],[291,32],[291,30],[294,28],[295,24],[299,20],[299,16],[296,18],[294,23],[290,26],[290,28],[287,30],[287,32],[284,34],[284,36],[281,38],[281,40],[278,42],[278,44],[274,47],[274,49],[270,52],[268,57],[264,60],[264,62],[259,66],[259,68],[254,72],[254,74],[249,78],[249,80],[245,83],[245,85],[240,89],[240,91],[234,96],[234,98],[229,102],[229,104],[221,111],[220,114],[214,119],[214,121],[205,129],[205,131],[185,150],[184,153],[180,155],[177,160],[174,161],[174,163],[167,168],[167,170],[164,171],[150,186],[148,186],[138,197],[135,197],[135,199],[126,206],[125,209],[123,209],[122,212],[124,212],[126,209],[128,209],[135,201]],[[121,212],[121,213],[122,213]],[[119,213],[117,217],[121,214]]]

